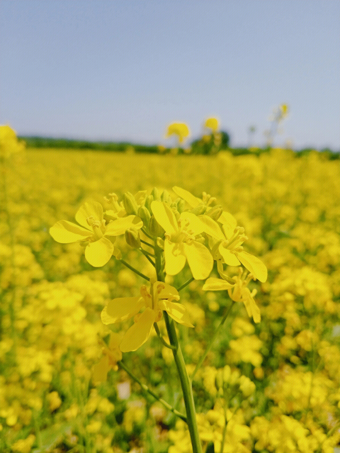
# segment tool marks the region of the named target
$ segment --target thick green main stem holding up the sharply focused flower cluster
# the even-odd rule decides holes
[[[157,280],[164,281],[165,274],[164,274],[163,250],[160,247],[156,246],[156,244],[155,244],[155,255],[156,255]],[[174,346],[174,349],[172,349],[172,354],[173,358],[175,359],[179,379],[181,381],[184,404],[187,413],[187,425],[192,443],[192,452],[202,453],[202,445],[198,435],[194,397],[192,394],[192,384],[189,379],[182,350],[178,342],[175,324],[173,322],[173,319],[169,318],[168,313],[166,311],[163,311],[163,316],[165,324],[167,326],[170,344]]]

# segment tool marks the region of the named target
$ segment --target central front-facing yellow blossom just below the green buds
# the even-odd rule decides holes
[[[204,231],[201,220],[192,212],[182,212],[177,222],[171,207],[160,201],[153,201],[151,210],[165,230],[165,272],[176,275],[188,261],[194,279],[206,279],[211,273],[214,260],[206,246],[196,238]]]

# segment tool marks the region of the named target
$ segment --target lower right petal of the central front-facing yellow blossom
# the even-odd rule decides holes
[[[204,280],[211,273],[214,259],[210,251],[197,241],[190,244],[184,242],[184,253],[188,260],[188,265],[195,280]]]

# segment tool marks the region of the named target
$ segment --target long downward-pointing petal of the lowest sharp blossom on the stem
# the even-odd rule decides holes
[[[156,313],[151,308],[145,308],[136,323],[125,333],[120,343],[121,352],[135,351],[144,344],[150,336]]]

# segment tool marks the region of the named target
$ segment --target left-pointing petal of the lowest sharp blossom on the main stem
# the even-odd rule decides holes
[[[118,297],[110,300],[101,312],[104,324],[114,324],[132,318],[145,306],[143,297]]]

